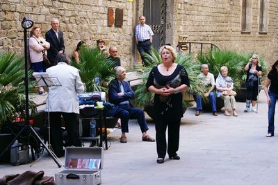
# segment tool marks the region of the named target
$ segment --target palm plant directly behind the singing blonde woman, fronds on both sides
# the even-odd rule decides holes
[[[137,107],[144,107],[145,105],[152,105],[154,102],[154,94],[146,89],[146,82],[149,76],[149,72],[151,71],[152,67],[161,64],[162,59],[161,55],[152,47],[151,54],[145,53],[145,57],[147,58],[147,62],[149,63],[148,67],[141,67],[137,66],[138,71],[140,71],[139,76],[142,79],[142,83],[138,85],[135,94],[136,98],[134,103]],[[198,74],[200,73],[200,65],[199,62],[193,60],[191,55],[187,55],[185,53],[178,53],[177,58],[175,60],[177,64],[183,66],[186,71],[188,72],[188,78],[190,80],[190,92],[200,92],[202,91],[204,85],[203,80],[197,78]],[[183,105],[188,106],[188,100],[183,100]]]

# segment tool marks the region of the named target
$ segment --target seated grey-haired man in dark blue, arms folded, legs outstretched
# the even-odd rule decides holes
[[[129,85],[129,82],[126,82],[126,71],[123,67],[115,67],[117,77],[111,81],[108,90],[109,102],[115,105],[115,108],[110,110],[111,116],[121,118],[122,121],[122,136],[120,138],[121,143],[126,143],[126,132],[129,132],[129,118],[138,120],[140,129],[142,132],[142,141],[151,141],[152,139],[147,135],[147,122],[145,119],[145,113],[142,109],[138,109],[131,105],[131,99],[134,98],[134,92]]]

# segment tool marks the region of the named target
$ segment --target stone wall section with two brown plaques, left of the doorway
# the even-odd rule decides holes
[[[108,8],[124,10],[122,28],[107,26]],[[65,53],[72,55],[77,43],[84,40],[88,46],[101,38],[107,45],[117,46],[122,65],[129,67],[133,53],[133,2],[121,0],[2,0],[0,3],[0,51],[24,52],[21,21],[30,17],[42,27],[42,35],[51,28],[56,17],[64,33]],[[115,15],[114,15],[115,17]]]

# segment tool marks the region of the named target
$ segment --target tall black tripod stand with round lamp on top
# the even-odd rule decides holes
[[[31,134],[33,134],[35,139],[40,141],[42,146],[45,148],[45,150],[47,150],[49,155],[52,157],[52,159],[54,159],[54,161],[56,162],[56,164],[60,168],[62,165],[58,161],[57,157],[51,152],[51,150],[49,150],[49,148],[47,148],[47,146],[44,144],[44,142],[42,141],[40,136],[37,134],[37,132],[35,132],[33,127],[31,127],[31,125],[29,124],[27,29],[31,28],[32,26],[33,26],[33,21],[31,21],[30,19],[24,17],[24,19],[22,21],[22,27],[24,28],[24,55],[25,55],[25,57],[24,57],[25,58],[25,67],[24,67],[24,70],[25,70],[25,76],[24,76],[24,83],[25,83],[25,112],[26,112],[25,124],[22,127],[22,130],[20,130],[20,132],[15,136],[13,141],[10,142],[10,144],[6,147],[5,150],[3,150],[3,152],[0,155],[0,157],[4,154],[4,152],[6,152],[6,150],[8,150],[10,148],[10,146],[12,146],[12,144],[15,142],[15,140],[17,140],[19,135],[22,134],[22,132],[24,132],[26,130],[26,132],[30,132]]]

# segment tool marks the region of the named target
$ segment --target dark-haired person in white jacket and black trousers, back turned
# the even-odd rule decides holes
[[[85,87],[81,82],[79,70],[68,64],[65,53],[56,57],[58,64],[47,69],[50,77],[57,78],[61,86],[49,87],[45,111],[49,112],[51,146],[57,157],[64,155],[61,132],[61,116],[65,121],[69,146],[81,146],[79,140],[79,102],[77,94]]]

